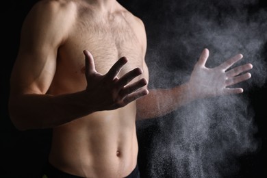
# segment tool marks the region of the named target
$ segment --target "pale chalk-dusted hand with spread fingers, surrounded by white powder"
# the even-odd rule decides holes
[[[192,71],[189,88],[194,97],[214,97],[223,94],[242,93],[242,88],[227,88],[251,78],[251,73],[244,73],[253,68],[252,64],[244,64],[230,69],[233,64],[243,58],[241,54],[235,55],[214,68],[205,67],[209,57],[208,49],[201,53]],[[241,73],[244,73],[240,75]]]

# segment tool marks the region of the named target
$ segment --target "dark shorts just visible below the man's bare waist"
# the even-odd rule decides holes
[[[82,177],[64,173],[62,170],[59,170],[58,168],[55,168],[53,165],[48,163],[44,170],[44,175],[42,176],[42,178],[82,178]],[[136,165],[136,168],[133,169],[131,174],[129,174],[125,178],[140,178],[138,166]]]

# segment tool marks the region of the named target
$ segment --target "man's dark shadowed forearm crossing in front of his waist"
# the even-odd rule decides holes
[[[10,118],[18,129],[53,128],[94,112],[83,92],[52,96],[23,94],[10,97]]]

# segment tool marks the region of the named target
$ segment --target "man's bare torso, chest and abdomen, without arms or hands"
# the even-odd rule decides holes
[[[84,90],[84,54],[94,57],[97,72],[107,73],[121,57],[128,58],[118,77],[142,68],[144,51],[136,34],[136,19],[117,5],[112,14],[100,14],[90,6],[76,6],[75,23],[58,49],[55,77],[49,94]],[[90,85],[90,84],[88,84]],[[49,160],[53,166],[87,177],[125,177],[136,166],[136,102],[118,110],[94,112],[56,127]]]

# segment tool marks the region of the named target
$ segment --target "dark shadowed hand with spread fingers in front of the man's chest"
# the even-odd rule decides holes
[[[142,74],[142,69],[135,68],[118,79],[117,75],[127,63],[127,58],[120,58],[107,74],[101,75],[94,67],[92,54],[85,50],[84,55],[86,56],[86,91],[90,96],[90,102],[94,101],[96,110],[115,110],[148,94],[147,89],[142,89],[147,85],[146,79],[129,84],[130,81]]]

